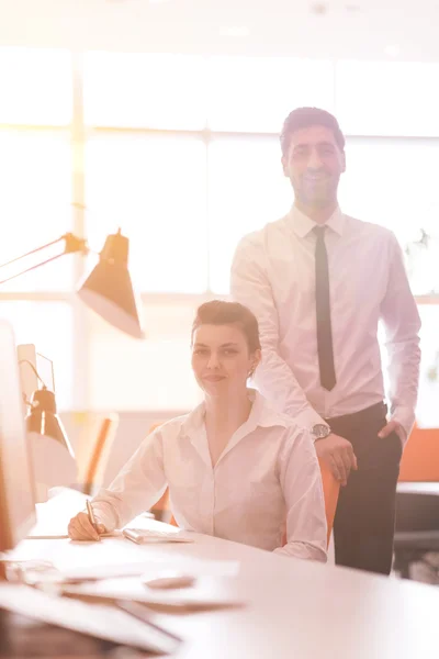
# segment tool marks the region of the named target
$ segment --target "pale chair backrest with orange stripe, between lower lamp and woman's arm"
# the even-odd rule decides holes
[[[85,494],[92,494],[103,482],[119,415],[90,413],[83,420],[76,450],[77,481]]]

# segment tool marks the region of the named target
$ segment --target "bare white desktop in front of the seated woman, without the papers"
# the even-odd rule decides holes
[[[158,522],[145,521],[146,525]],[[162,525],[160,524],[160,527]],[[166,525],[165,525],[166,526]],[[239,561],[224,589],[244,608],[160,615],[183,637],[178,659],[437,659],[439,589],[301,561],[194,534],[187,545],[137,546],[122,538],[75,544],[24,540],[14,558],[64,563],[191,556]]]

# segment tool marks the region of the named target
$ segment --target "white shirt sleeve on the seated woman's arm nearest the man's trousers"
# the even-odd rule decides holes
[[[291,431],[280,455],[280,482],[286,504],[286,545],[274,554],[327,560],[327,524],[322,474],[306,431]]]

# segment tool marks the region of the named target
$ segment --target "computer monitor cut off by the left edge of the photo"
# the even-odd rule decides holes
[[[0,551],[12,549],[35,523],[15,338],[11,325],[0,319]]]

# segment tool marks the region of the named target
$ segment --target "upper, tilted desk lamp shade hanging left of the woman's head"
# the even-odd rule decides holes
[[[83,281],[78,295],[90,309],[117,330],[144,338],[128,271],[128,238],[108,236],[99,264]]]

